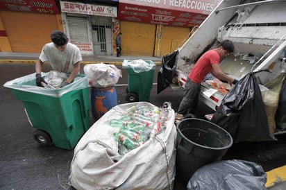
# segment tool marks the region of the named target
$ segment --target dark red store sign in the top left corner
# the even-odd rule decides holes
[[[0,10],[60,14],[53,0],[0,0]]]

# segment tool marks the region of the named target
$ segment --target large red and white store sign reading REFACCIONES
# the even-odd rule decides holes
[[[216,0],[120,0],[118,19],[171,26],[198,26],[217,6]]]

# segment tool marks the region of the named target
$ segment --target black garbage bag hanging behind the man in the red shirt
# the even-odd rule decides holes
[[[157,94],[169,87],[172,83],[177,63],[178,51],[169,53],[162,57],[162,67],[158,72],[157,78]]]

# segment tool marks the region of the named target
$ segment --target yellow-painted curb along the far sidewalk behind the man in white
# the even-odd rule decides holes
[[[0,64],[35,64],[37,60],[0,60]],[[117,66],[122,65],[122,61],[81,61],[81,64],[99,64],[99,63],[105,63],[105,64],[114,64]],[[162,63],[155,61],[155,65],[161,66]]]

